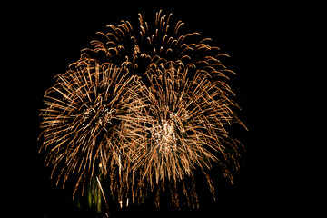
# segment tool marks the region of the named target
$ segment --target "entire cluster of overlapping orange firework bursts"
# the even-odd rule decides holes
[[[143,203],[147,193],[159,206],[169,192],[173,206],[196,207],[194,172],[211,193],[213,163],[233,181],[240,143],[226,126],[242,123],[225,83],[233,72],[218,59],[227,55],[170,20],[159,12],[154,28],[142,15],[139,30],[109,25],[45,92],[45,163],[58,182],[77,178],[74,193],[96,181],[121,206]]]

